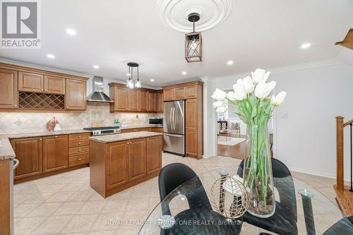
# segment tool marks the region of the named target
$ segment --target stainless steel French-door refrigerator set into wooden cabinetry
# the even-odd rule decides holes
[[[185,101],[164,102],[164,152],[185,156]]]

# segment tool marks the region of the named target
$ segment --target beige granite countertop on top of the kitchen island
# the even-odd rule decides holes
[[[116,141],[122,141],[122,140],[132,140],[132,139],[138,139],[138,138],[152,137],[157,135],[162,135],[162,133],[150,132],[150,131],[137,131],[133,133],[91,136],[90,140],[95,140],[101,143],[110,143],[110,142],[116,142]]]

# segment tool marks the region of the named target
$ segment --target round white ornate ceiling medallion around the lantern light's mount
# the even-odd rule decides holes
[[[234,0],[159,0],[157,11],[165,25],[179,32],[191,32],[188,16],[198,13],[197,31],[210,30],[220,25],[232,11]]]

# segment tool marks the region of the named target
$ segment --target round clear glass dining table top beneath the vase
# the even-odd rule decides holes
[[[145,219],[139,234],[253,235],[264,232],[313,235],[323,234],[343,217],[340,209],[331,200],[294,176],[274,179],[276,211],[272,217],[258,218],[248,212],[237,219],[223,217],[210,204],[211,188],[213,182],[220,178],[220,173],[226,172],[228,176],[234,176],[237,171],[238,167],[214,169],[181,184],[155,206]],[[287,193],[282,192],[283,186]],[[197,207],[190,207],[189,200],[202,195],[208,200],[200,200]],[[283,206],[288,203],[288,207]]]

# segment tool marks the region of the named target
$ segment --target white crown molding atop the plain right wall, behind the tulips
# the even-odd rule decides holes
[[[330,59],[323,59],[323,60],[319,60],[319,61],[311,61],[311,62],[302,63],[302,64],[292,64],[289,66],[282,66],[282,67],[277,67],[277,68],[266,68],[265,70],[271,71],[271,73],[285,73],[285,72],[290,72],[290,71],[299,71],[299,70],[303,70],[303,69],[307,69],[307,68],[333,66],[336,64],[344,64],[344,63],[342,61],[338,60],[337,58],[330,58]],[[220,81],[227,81],[227,80],[244,78],[246,76],[250,76],[250,71],[249,71],[249,73],[235,73],[232,75],[212,78],[212,81],[213,81],[213,83],[217,83]]]

